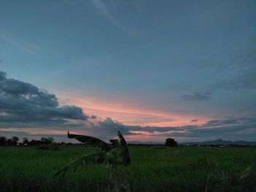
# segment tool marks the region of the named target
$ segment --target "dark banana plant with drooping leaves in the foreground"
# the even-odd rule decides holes
[[[101,147],[102,151],[99,153],[83,155],[81,158],[78,158],[69,163],[67,166],[64,166],[62,169],[56,172],[54,176],[61,173],[64,176],[69,169],[73,169],[75,171],[78,169],[78,166],[106,164],[107,167],[109,167],[109,165],[111,166],[111,171],[105,191],[131,191],[129,185],[129,164],[131,163],[129,158],[129,150],[127,147],[127,142],[120,131],[118,131],[118,139],[110,139],[110,144],[102,141],[101,139],[85,135],[69,134],[69,132],[67,132],[67,137],[70,139],[77,139],[78,141],[89,146]],[[121,181],[119,178],[118,167],[120,166],[126,169],[126,177],[124,181]]]

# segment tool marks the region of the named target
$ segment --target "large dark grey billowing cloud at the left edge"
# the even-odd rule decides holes
[[[54,94],[0,72],[0,127],[64,124],[89,118],[80,107],[62,106]]]

